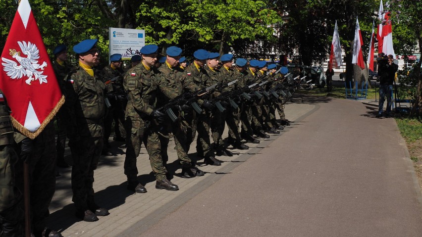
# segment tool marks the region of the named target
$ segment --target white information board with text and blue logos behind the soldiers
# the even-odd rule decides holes
[[[141,47],[145,46],[145,30],[108,28],[109,55],[119,53],[122,59],[130,59],[133,55],[141,54]]]

